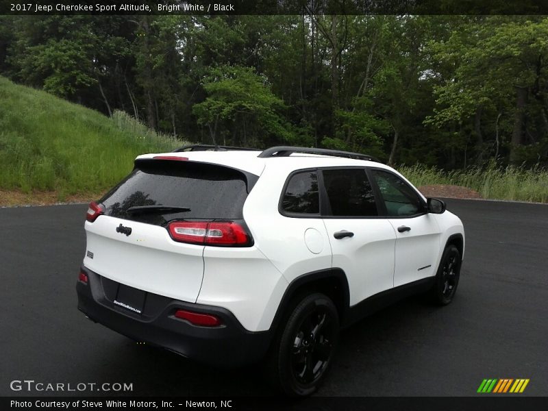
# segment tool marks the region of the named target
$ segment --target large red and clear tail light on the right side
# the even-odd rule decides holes
[[[174,221],[168,230],[171,238],[178,242],[233,247],[251,245],[251,236],[235,221]]]

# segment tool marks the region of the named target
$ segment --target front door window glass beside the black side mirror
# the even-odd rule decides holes
[[[414,216],[424,212],[421,197],[406,183],[388,171],[371,170],[379,186],[388,216]]]

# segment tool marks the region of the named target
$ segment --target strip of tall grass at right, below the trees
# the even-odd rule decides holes
[[[488,167],[445,172],[426,166],[401,166],[398,171],[415,186],[452,184],[472,188],[484,199],[548,203],[548,170],[540,167]]]

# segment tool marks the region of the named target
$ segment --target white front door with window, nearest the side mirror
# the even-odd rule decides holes
[[[425,201],[404,179],[384,169],[370,169],[369,174],[379,197],[382,211],[397,236],[394,286],[435,274],[440,249],[440,228]]]

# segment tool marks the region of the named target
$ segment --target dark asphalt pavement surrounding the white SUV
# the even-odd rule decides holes
[[[413,297],[345,330],[318,395],[474,396],[482,379],[527,378],[548,395],[548,205],[448,199],[466,231],[458,292]],[[131,383],[134,396],[272,395],[258,367],[195,364],[88,321],[75,282],[87,206],[0,209],[0,395],[10,382]]]

